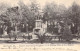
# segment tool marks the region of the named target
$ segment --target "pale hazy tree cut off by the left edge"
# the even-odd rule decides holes
[[[5,23],[8,19],[6,18],[7,8],[10,8],[10,5],[7,3],[0,3],[0,23]]]

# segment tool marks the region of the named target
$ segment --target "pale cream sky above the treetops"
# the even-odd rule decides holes
[[[0,0],[0,4],[1,3],[6,3],[6,4],[8,4],[8,5],[10,5],[10,6],[17,6],[18,4],[18,2],[19,2],[20,0]],[[29,5],[30,4],[30,0],[21,0],[21,1],[23,1],[26,5]],[[47,3],[51,3],[51,2],[55,2],[56,4],[58,4],[58,5],[62,5],[62,4],[64,4],[66,7],[70,7],[71,6],[71,4],[75,1],[76,3],[80,3],[80,0],[36,0],[39,4],[40,4],[40,6],[41,7],[44,7],[45,6],[45,4],[47,4]],[[79,4],[80,5],[80,4]]]

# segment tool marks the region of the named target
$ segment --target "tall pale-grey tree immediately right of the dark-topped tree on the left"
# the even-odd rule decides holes
[[[28,22],[28,20],[31,18],[30,9],[22,1],[19,1],[18,5],[19,5],[19,12],[20,12],[22,22],[26,24]]]

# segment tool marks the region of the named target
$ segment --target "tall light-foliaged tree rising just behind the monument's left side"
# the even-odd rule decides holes
[[[31,4],[29,6],[30,8],[30,19],[29,19],[29,28],[33,30],[35,27],[35,20],[40,18],[40,6],[37,4],[36,1],[31,1]]]

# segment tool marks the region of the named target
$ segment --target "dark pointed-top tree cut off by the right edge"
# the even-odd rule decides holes
[[[73,3],[72,7],[71,7],[71,11],[72,11],[72,21],[74,23],[76,23],[76,25],[79,25],[80,23],[80,6],[77,5],[75,2]]]

